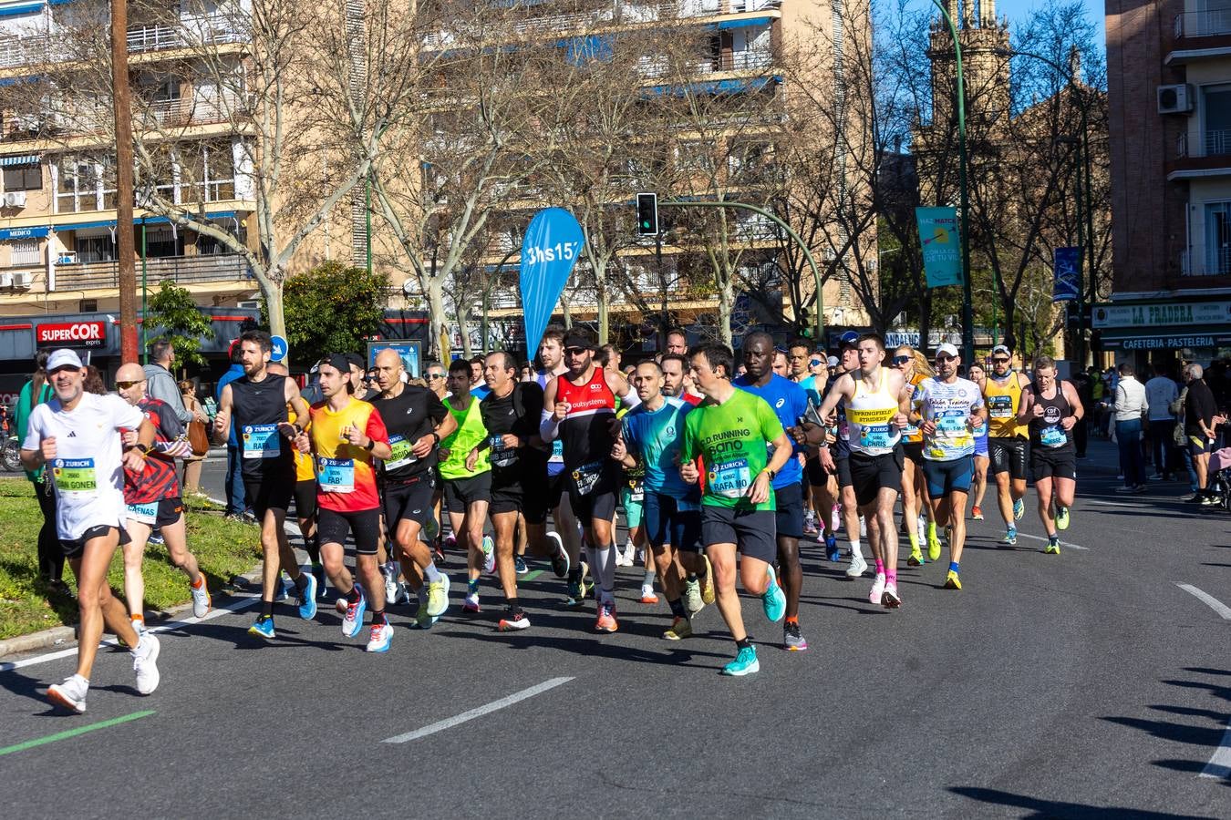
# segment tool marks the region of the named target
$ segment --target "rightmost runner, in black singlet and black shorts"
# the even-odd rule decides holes
[[[1073,427],[1086,414],[1077,388],[1056,379],[1051,357],[1034,358],[1034,384],[1022,393],[1018,420],[1030,429],[1030,472],[1039,497],[1039,519],[1048,534],[1043,552],[1060,554],[1056,530],[1069,529],[1070,509],[1077,492],[1077,450]]]

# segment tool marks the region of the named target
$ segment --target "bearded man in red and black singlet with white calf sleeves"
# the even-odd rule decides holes
[[[581,521],[590,566],[598,580],[598,618],[595,628],[616,632],[616,546],[612,518],[620,471],[611,460],[619,423],[616,398],[630,409],[640,403],[623,374],[599,368],[595,345],[580,331],[564,339],[567,373],[548,382],[543,395],[540,435],[564,443],[564,487]],[[550,408],[550,409],[547,409]]]

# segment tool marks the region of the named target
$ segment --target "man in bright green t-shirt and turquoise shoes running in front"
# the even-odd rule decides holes
[[[723,668],[723,674],[751,675],[761,669],[761,663],[744,629],[735,577],[739,573],[744,589],[761,597],[771,622],[783,618],[787,596],[773,569],[778,551],[772,484],[790,459],[792,445],[773,408],[731,384],[735,357],[729,348],[702,345],[692,355],[691,370],[709,402],[684,419],[680,476],[696,484],[700,477],[696,459],[700,456],[705,466],[702,540],[714,567],[718,611],[736,645],[735,660]],[[773,455],[767,447],[771,444]]]

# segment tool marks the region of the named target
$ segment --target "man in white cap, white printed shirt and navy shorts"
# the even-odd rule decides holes
[[[945,527],[949,572],[945,589],[961,589],[961,548],[966,543],[966,498],[974,467],[975,438],[981,427],[984,398],[979,385],[958,379],[960,357],[953,344],[936,349],[936,376],[920,382],[911,419],[923,432],[923,475],[932,518]],[[931,545],[928,547],[931,551]],[[932,557],[932,561],[939,558]]]

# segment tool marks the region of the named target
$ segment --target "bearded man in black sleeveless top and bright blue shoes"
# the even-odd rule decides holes
[[[279,569],[291,575],[298,590],[299,617],[308,621],[316,615],[316,578],[299,570],[295,553],[282,529],[295,483],[291,438],[297,428],[287,420],[287,406],[294,409],[297,417],[308,418],[308,404],[299,397],[294,381],[268,371],[273,349],[268,333],[246,331],[239,337],[239,348],[244,375],[223,387],[214,433],[224,435],[234,413],[244,493],[261,525],[263,556],[261,612],[249,632],[272,638],[273,599],[282,586]]]

